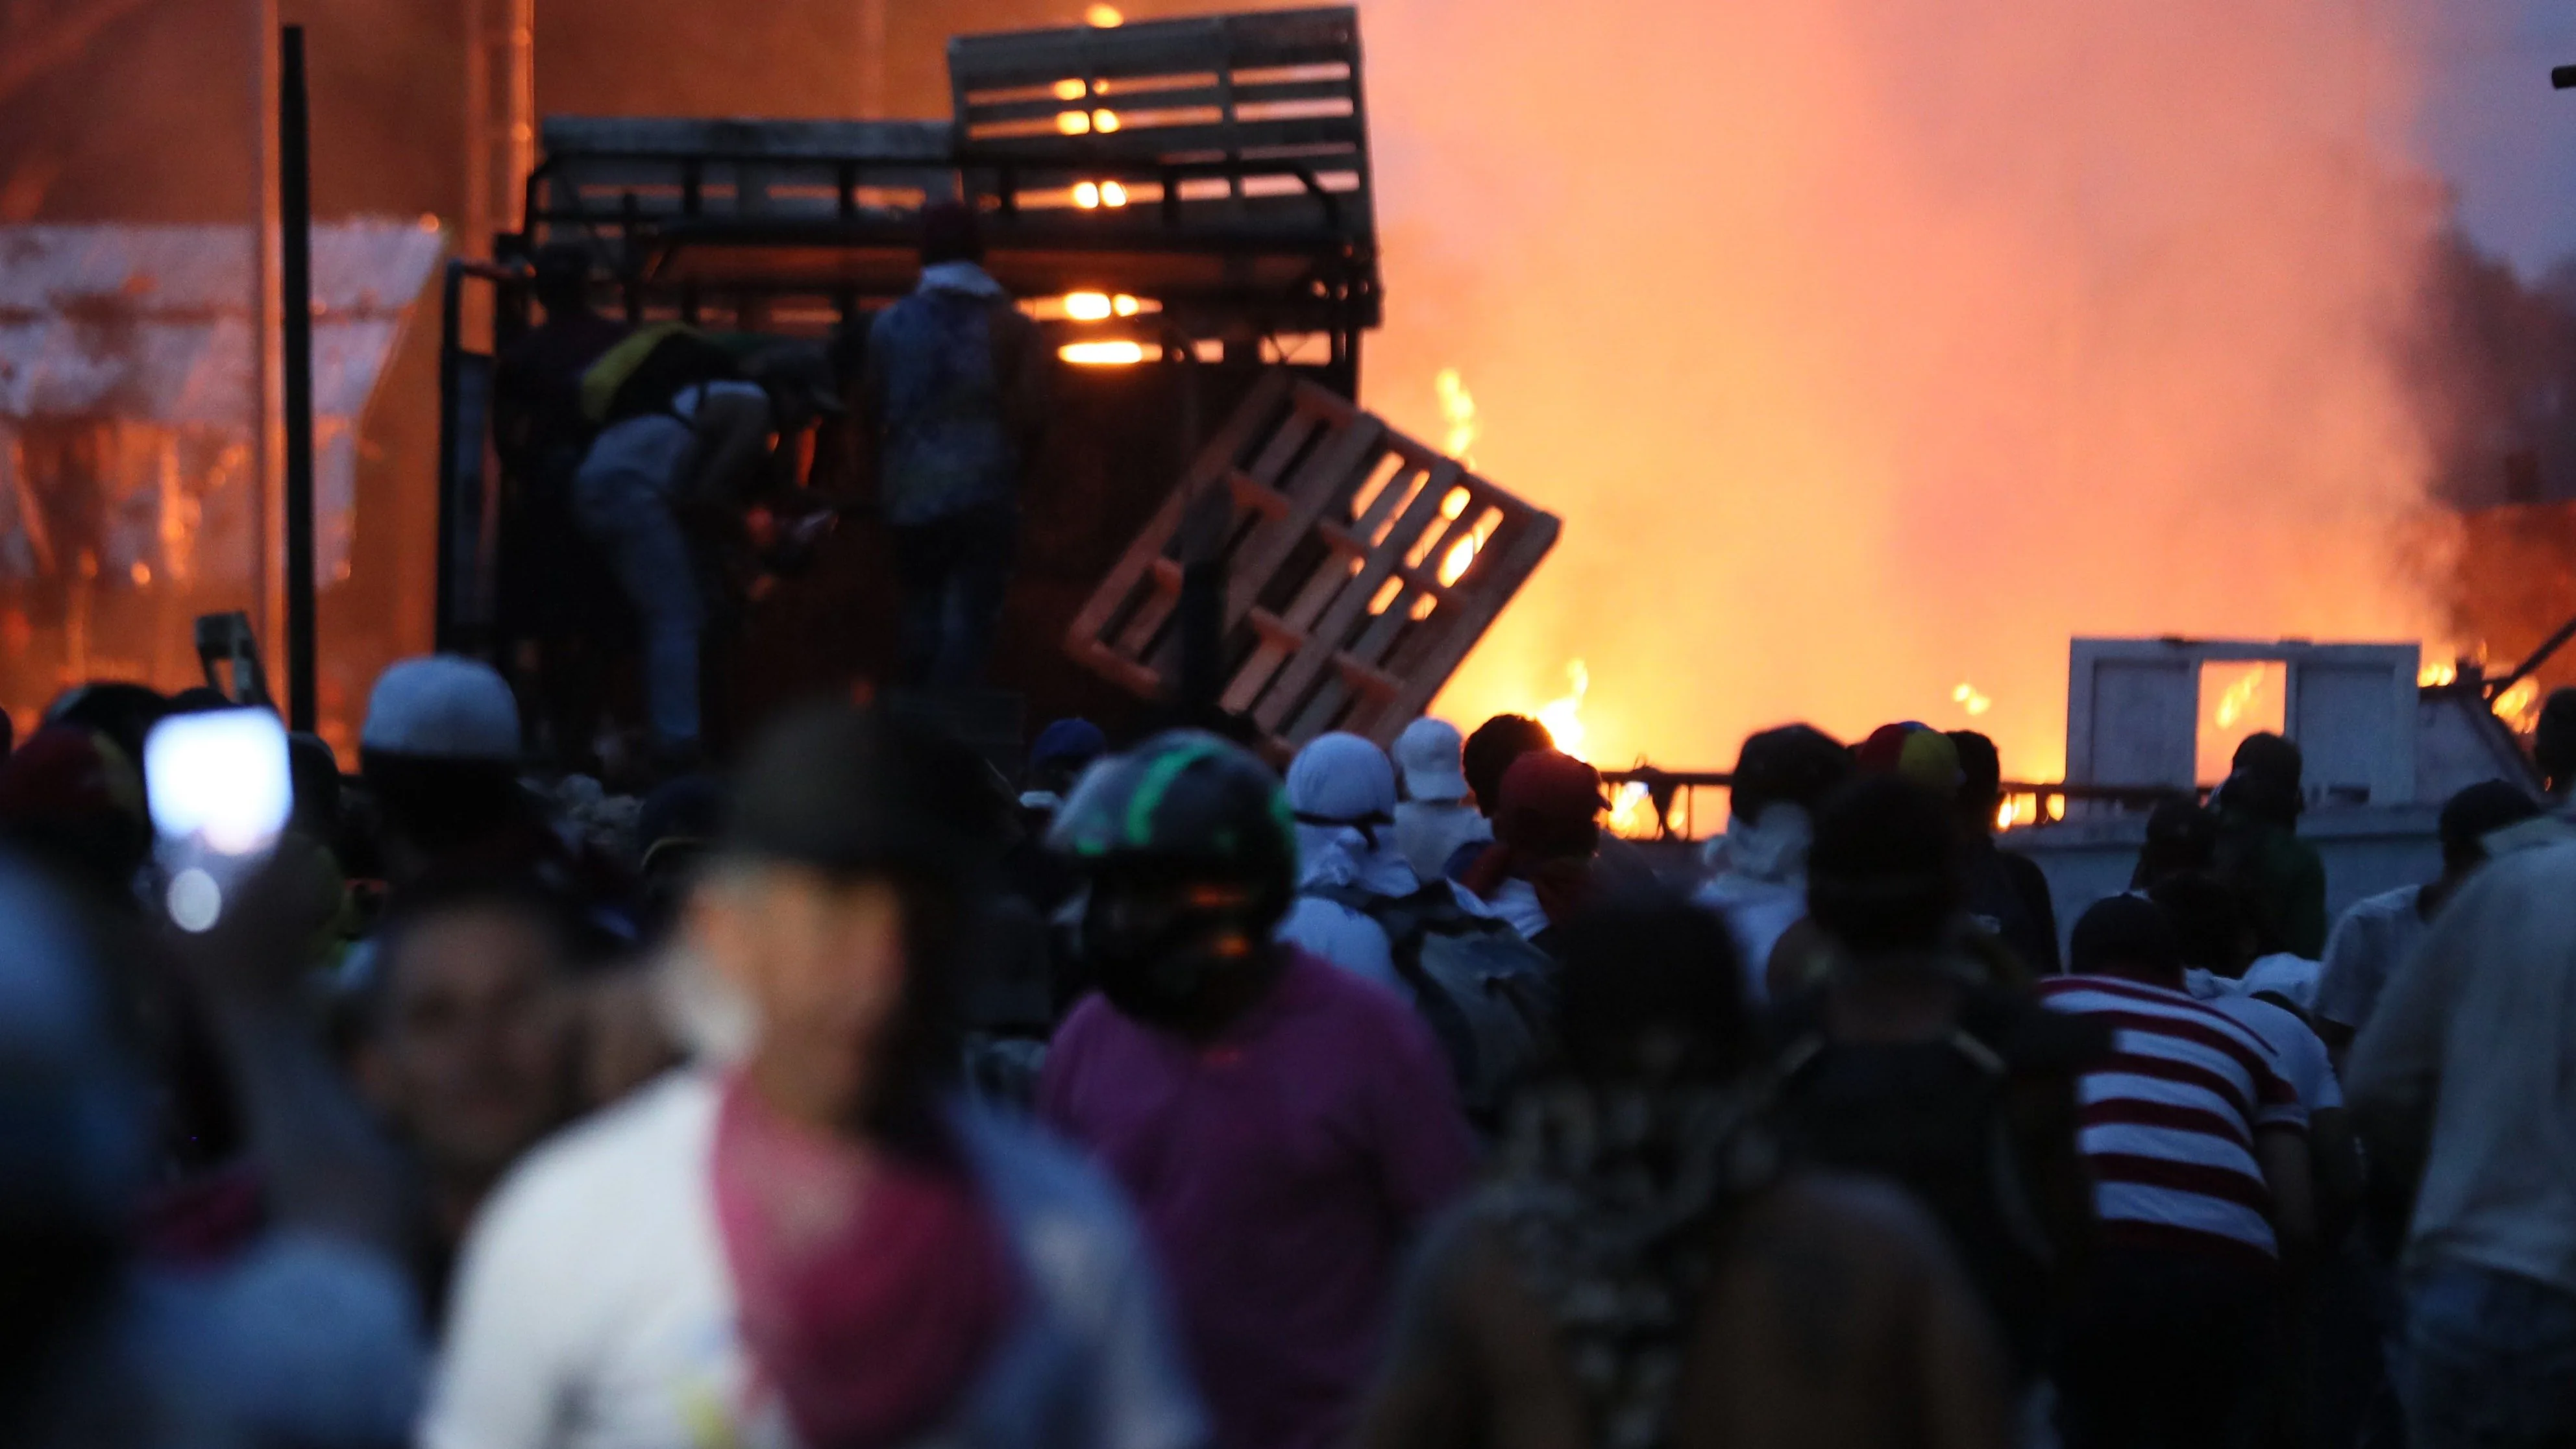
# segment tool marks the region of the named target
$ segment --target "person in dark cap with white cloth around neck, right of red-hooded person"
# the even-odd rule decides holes
[[[1726,916],[1754,1001],[1772,947],[1806,916],[1806,852],[1816,811],[1852,777],[1852,754],[1814,726],[1754,734],[1736,757],[1726,834],[1708,844],[1700,906]]]

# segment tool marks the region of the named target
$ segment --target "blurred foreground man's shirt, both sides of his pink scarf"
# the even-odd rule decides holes
[[[672,1073],[538,1148],[466,1243],[422,1449],[791,1449],[737,1333],[719,1084]],[[1038,1132],[961,1117],[1028,1287],[938,1444],[1190,1449],[1198,1400],[1118,1192]]]

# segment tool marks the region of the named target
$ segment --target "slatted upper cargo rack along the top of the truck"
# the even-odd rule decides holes
[[[1381,319],[1358,13],[963,36],[951,121],[544,121],[515,250],[582,242],[629,317],[817,332],[912,288],[969,201],[1023,299],[1141,299],[1087,340],[1298,355],[1358,391]],[[1077,131],[1079,134],[1072,134]]]

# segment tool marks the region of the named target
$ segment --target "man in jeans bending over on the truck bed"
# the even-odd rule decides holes
[[[634,345],[649,353],[618,386],[618,420],[582,458],[572,504],[636,610],[654,767],[685,772],[703,757],[698,667],[721,561],[760,543],[752,507],[796,494],[799,435],[845,407],[806,342],[739,368],[693,329]]]

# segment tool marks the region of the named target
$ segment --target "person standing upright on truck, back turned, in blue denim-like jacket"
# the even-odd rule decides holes
[[[922,281],[876,314],[860,373],[894,530],[907,685],[984,677],[1020,540],[1020,481],[1046,430],[1038,324],[984,270],[976,214],[922,208]]]

